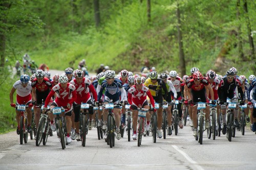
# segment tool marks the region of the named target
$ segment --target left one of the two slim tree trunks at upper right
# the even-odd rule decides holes
[[[238,20],[238,53],[239,57],[246,61],[246,58],[243,53],[243,43],[242,43],[242,37],[241,37],[241,19],[240,19],[240,0],[237,0],[237,20]]]

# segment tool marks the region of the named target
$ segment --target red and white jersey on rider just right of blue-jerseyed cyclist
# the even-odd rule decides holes
[[[134,85],[128,90],[128,102],[131,105],[135,105],[137,107],[138,105],[143,105],[143,103],[146,101],[146,96],[150,98],[152,106],[155,107],[154,99],[148,87],[143,85],[141,90],[138,91]]]

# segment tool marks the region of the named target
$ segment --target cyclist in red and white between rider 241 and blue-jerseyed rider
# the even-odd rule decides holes
[[[76,128],[76,140],[80,140],[79,135],[79,114],[81,109],[81,103],[92,104],[91,94],[93,93],[93,98],[95,102],[97,101],[97,93],[91,83],[87,78],[84,78],[84,72],[78,70],[75,72],[75,79],[70,82],[76,88],[76,100],[73,103],[74,113],[75,113],[75,128]],[[93,117],[93,107],[89,109],[89,130],[92,129],[92,117]]]

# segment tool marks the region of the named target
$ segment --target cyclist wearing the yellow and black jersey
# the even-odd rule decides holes
[[[157,125],[158,125],[158,131],[157,135],[159,138],[162,138],[162,122],[163,122],[163,108],[162,103],[163,99],[166,100],[167,98],[167,88],[163,81],[163,79],[158,79],[157,71],[151,71],[150,72],[150,78],[146,79],[144,85],[150,89],[150,92],[153,96],[153,99],[156,103],[159,103],[159,109],[157,109]],[[162,89],[164,90],[164,95],[162,94]]]

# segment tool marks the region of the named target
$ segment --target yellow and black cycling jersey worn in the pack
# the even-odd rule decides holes
[[[153,97],[157,97],[160,99],[162,98],[162,89],[164,90],[164,100],[167,98],[167,88],[166,84],[164,83],[163,79],[157,79],[156,83],[152,83],[151,79],[146,79],[144,85],[150,89],[150,92]]]

